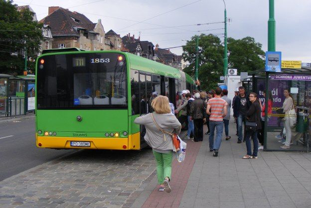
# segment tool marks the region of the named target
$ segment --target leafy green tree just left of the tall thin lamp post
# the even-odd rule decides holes
[[[183,46],[182,58],[189,62],[189,66],[184,72],[194,76],[195,73],[195,39],[193,36],[187,44]],[[217,87],[219,77],[223,73],[223,46],[219,37],[209,34],[201,34],[199,36],[198,48],[198,77],[201,81],[201,89],[207,90]]]

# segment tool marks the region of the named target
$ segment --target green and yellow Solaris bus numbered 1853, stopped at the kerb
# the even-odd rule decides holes
[[[184,72],[131,53],[53,50],[36,62],[36,145],[140,150],[144,127],[134,119],[152,112],[155,96],[176,107],[194,87]]]

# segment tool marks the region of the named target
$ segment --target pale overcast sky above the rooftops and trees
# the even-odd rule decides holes
[[[123,37],[131,33],[158,44],[160,48],[184,45],[193,35],[216,34],[224,39],[226,4],[227,36],[255,38],[268,49],[269,0],[14,0],[30,5],[37,19],[48,14],[49,6],[61,6],[83,13],[106,32],[113,29]],[[225,2],[225,4],[224,4]],[[311,0],[274,0],[276,51],[282,60],[311,62]],[[215,23],[220,22],[220,23]],[[207,24],[209,23],[209,24]],[[210,24],[212,23],[212,24]],[[203,24],[203,25],[196,25]],[[181,55],[182,48],[171,48]]]

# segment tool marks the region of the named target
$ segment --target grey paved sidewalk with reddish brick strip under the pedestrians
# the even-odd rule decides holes
[[[218,157],[209,152],[204,135],[203,142],[195,143],[201,145],[190,177],[188,169],[179,171],[182,165],[173,163],[178,171],[172,173],[172,192],[159,193],[154,179],[143,192],[148,196],[139,196],[132,207],[311,208],[311,154],[260,151],[258,159],[241,159],[246,146],[237,143],[234,126],[231,122],[231,139],[223,139]],[[186,158],[191,159],[197,149],[188,143]]]

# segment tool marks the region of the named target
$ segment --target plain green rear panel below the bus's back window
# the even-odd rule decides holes
[[[127,109],[37,110],[36,117],[37,130],[42,131],[121,132],[129,126]]]

